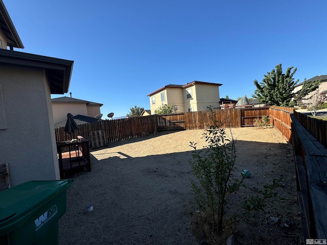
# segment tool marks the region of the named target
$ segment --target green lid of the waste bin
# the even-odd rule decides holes
[[[72,184],[69,180],[28,181],[0,192],[0,226],[42,205]]]

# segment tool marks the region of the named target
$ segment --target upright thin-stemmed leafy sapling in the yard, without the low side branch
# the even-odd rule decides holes
[[[192,153],[190,164],[199,185],[194,180],[191,180],[191,184],[199,208],[209,212],[213,230],[221,232],[227,195],[238,191],[244,178],[233,178],[237,169],[235,141],[232,134],[228,138],[225,129],[221,128],[222,124],[214,120],[214,109],[216,108],[208,107],[209,116],[214,123],[208,125],[203,133],[207,146],[205,150]],[[190,142],[194,150],[196,144]]]

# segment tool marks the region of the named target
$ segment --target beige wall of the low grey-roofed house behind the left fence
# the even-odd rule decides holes
[[[67,119],[67,113],[87,116],[86,104],[83,103],[52,103],[54,123]]]

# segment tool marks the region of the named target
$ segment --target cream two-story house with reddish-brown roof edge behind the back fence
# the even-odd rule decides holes
[[[219,107],[219,83],[193,81],[185,85],[166,85],[148,94],[151,114],[162,104],[173,105],[173,112],[204,111]]]

